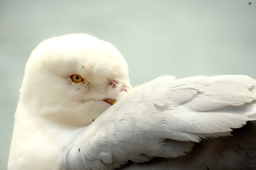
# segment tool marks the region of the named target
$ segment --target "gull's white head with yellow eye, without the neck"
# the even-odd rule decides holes
[[[29,116],[85,126],[132,87],[124,57],[87,34],[50,38],[32,51],[20,89]]]

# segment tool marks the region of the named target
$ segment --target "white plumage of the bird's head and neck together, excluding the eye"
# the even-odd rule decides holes
[[[72,74],[84,82],[73,83]],[[128,66],[112,44],[86,34],[43,41],[26,64],[8,168],[33,169],[40,159],[46,162],[42,169],[60,166],[51,162],[60,163],[58,156],[74,131],[111,106],[104,99],[117,99],[128,89]],[[35,163],[28,167],[27,161]]]

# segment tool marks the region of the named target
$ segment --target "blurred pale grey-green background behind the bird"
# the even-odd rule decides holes
[[[256,79],[256,0],[1,0],[0,169],[7,167],[26,60],[42,40],[87,33],[112,43],[132,85],[160,75]]]

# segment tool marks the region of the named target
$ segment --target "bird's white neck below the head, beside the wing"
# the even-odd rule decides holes
[[[10,148],[8,168],[60,169],[64,147],[83,128],[47,121],[41,115],[31,115],[18,105]]]

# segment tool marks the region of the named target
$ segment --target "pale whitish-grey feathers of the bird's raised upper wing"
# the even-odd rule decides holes
[[[113,169],[185,155],[193,142],[230,135],[255,120],[255,84],[248,76],[223,75],[162,76],[140,85],[66,147],[62,169]]]

